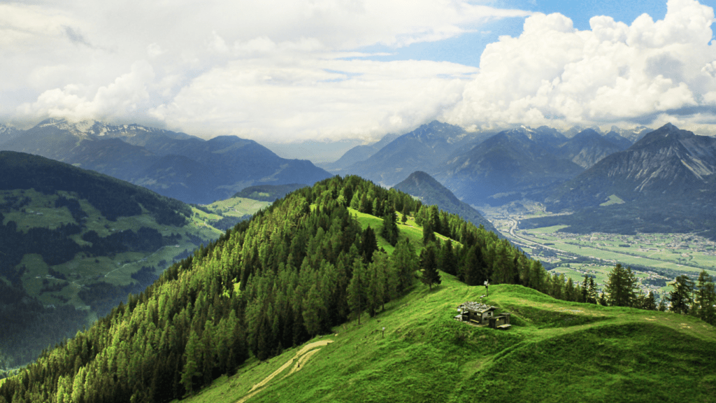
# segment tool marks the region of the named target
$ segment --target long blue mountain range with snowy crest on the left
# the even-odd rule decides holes
[[[207,204],[255,184],[313,184],[330,176],[236,136],[203,140],[142,125],[47,119],[0,146],[100,171],[185,202]]]

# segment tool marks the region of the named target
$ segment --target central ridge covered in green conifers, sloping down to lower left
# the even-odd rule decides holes
[[[352,211],[382,217],[382,227],[363,227]],[[398,228],[407,217],[422,226],[422,242]],[[279,199],[45,351],[0,385],[0,403],[183,397],[249,356],[268,359],[359,312],[374,316],[417,278],[432,289],[438,269],[468,285],[565,290],[492,232],[395,189],[336,176]]]

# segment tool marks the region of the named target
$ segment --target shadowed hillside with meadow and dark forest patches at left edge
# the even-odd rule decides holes
[[[0,351],[14,364],[139,293],[165,267],[219,237],[221,222],[236,224],[266,205],[193,209],[14,151],[0,151],[0,172]]]

